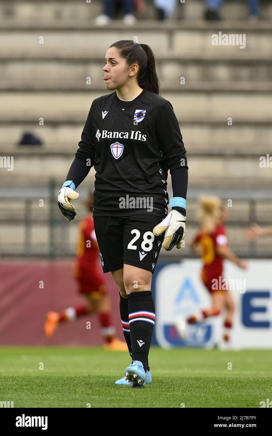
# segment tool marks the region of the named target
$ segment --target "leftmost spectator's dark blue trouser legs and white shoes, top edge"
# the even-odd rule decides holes
[[[141,7],[142,2],[138,1],[137,4]],[[137,20],[133,15],[134,0],[103,0],[103,13],[96,17],[96,25],[105,26],[109,24],[116,16],[120,6],[124,11],[124,24],[135,24]]]

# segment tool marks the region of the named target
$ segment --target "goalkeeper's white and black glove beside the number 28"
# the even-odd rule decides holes
[[[185,220],[186,217],[174,209],[165,217],[156,227],[153,228],[154,235],[158,236],[165,232],[162,247],[166,251],[172,250],[176,245],[177,248],[183,247],[185,237]]]

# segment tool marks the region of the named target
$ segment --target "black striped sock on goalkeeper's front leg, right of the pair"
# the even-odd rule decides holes
[[[142,362],[148,368],[154,323],[155,304],[151,291],[133,292],[128,295],[129,327],[132,347],[132,360]]]

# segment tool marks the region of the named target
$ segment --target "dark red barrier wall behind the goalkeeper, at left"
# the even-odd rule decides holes
[[[104,274],[112,301],[117,337],[124,340],[119,315],[119,293],[111,273]],[[39,282],[44,282],[44,289]],[[103,344],[98,319],[86,315],[62,324],[51,340],[43,334],[45,314],[82,304],[72,278],[72,262],[0,263],[0,344],[99,345]],[[91,329],[86,329],[86,321]]]

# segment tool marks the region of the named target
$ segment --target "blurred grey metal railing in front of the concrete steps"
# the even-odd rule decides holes
[[[86,215],[82,200],[88,190],[79,188],[80,200],[76,203],[77,216],[70,223],[65,220],[57,205],[59,186],[50,181],[42,187],[12,187],[0,189],[0,255],[5,258],[71,258],[76,253],[76,240],[80,219]],[[169,197],[171,196],[169,189]],[[160,253],[160,259],[194,257],[189,243],[197,231],[197,198],[200,194],[218,195],[232,200],[226,223],[232,249],[242,257],[269,258],[272,255],[272,238],[249,242],[243,236],[251,222],[271,225],[272,193],[252,190],[209,191],[189,189],[187,195],[186,247],[182,250]],[[188,246],[187,246],[188,245]]]

